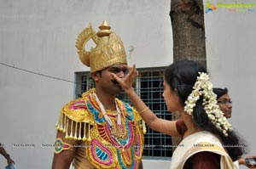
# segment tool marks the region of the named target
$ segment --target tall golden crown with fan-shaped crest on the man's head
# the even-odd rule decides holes
[[[104,20],[96,33],[89,24],[80,34],[76,42],[79,58],[84,65],[90,67],[90,72],[103,70],[115,64],[127,64],[123,42],[117,34],[110,31],[111,27]],[[84,49],[86,43],[92,39],[96,48],[90,51]]]

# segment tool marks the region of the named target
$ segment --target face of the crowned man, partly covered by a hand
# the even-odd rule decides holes
[[[123,64],[109,66],[97,73],[98,78],[95,79],[97,89],[102,89],[104,92],[114,95],[120,93],[122,87],[116,82],[111,74],[113,73],[116,76],[119,76],[119,78],[123,78],[128,72],[128,69]]]

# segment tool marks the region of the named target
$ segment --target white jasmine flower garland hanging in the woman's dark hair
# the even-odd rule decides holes
[[[192,115],[195,104],[202,95],[204,110],[206,110],[208,118],[218,130],[222,131],[225,136],[228,136],[227,132],[232,130],[232,126],[218,107],[216,94],[213,93],[212,83],[209,81],[210,78],[207,73],[199,72],[199,75],[197,76],[193,91],[185,101],[184,110],[187,114]]]

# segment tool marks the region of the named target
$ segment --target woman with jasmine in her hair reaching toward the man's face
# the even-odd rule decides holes
[[[167,66],[162,94],[167,110],[180,120],[160,119],[132,88],[137,77],[135,65],[124,78],[112,74],[150,128],[183,138],[172,155],[171,169],[234,169],[243,148],[241,140],[219,110],[207,70],[198,62],[183,60]]]

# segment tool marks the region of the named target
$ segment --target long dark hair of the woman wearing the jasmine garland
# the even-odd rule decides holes
[[[195,61],[182,60],[169,65],[165,70],[165,81],[170,85],[171,90],[177,89],[177,94],[181,104],[185,105],[185,101],[193,90],[199,72],[207,73],[207,69]],[[235,132],[228,132],[229,136],[225,137],[224,133],[219,131],[212,121],[209,120],[204,106],[202,104],[203,96],[198,99],[193,109],[193,122],[195,126],[201,129],[217,134],[223,141],[225,147],[233,161],[238,160],[244,153],[241,145],[241,139],[236,136]]]

